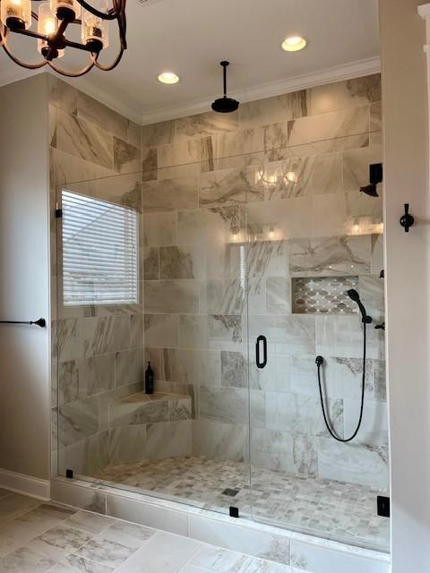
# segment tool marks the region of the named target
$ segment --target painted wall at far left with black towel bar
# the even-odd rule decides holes
[[[47,80],[0,89],[0,319],[49,319]],[[48,478],[49,329],[0,325],[0,468]]]

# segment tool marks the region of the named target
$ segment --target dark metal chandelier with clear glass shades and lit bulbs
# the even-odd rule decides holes
[[[90,5],[86,0],[50,0],[38,2],[39,9],[32,10],[31,0],[0,0],[0,46],[15,64],[28,70],[37,70],[49,65],[57,73],[68,77],[78,77],[90,72],[93,67],[108,72],[119,64],[127,47],[125,40],[125,0],[95,0]],[[108,22],[116,21],[119,34],[118,53],[111,64],[99,62],[100,52],[109,45]],[[33,25],[34,24],[34,25]],[[81,28],[81,42],[67,39],[67,29]],[[33,28],[33,30],[31,30]],[[43,59],[37,64],[23,62],[13,54],[8,44],[12,34],[22,34],[38,40],[38,51]],[[86,52],[86,64],[78,71],[64,70],[56,60],[64,56],[66,48]]]

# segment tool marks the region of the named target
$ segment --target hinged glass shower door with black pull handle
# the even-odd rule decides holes
[[[311,128],[296,136],[317,140]],[[383,329],[374,328],[384,321],[383,190],[359,192],[382,160],[377,140],[355,133],[246,158],[250,458],[255,519],[388,551],[389,520],[376,515],[377,495],[388,495]],[[373,322],[363,423],[342,443],[324,423],[315,358],[331,430],[348,438],[363,376],[363,323],[349,289]]]

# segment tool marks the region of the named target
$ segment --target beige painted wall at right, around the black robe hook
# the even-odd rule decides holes
[[[417,4],[380,0],[393,573],[430,571],[430,202]],[[399,225],[405,202],[417,217],[409,235]]]

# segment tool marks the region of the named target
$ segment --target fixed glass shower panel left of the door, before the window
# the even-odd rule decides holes
[[[136,233],[119,233],[89,220],[84,238],[93,243],[73,235],[73,262],[65,219],[57,219],[60,475],[70,469],[82,479],[250,516],[247,244],[238,175],[245,158],[235,162],[242,167],[234,176],[202,162],[58,187],[58,207],[64,192],[76,193],[139,222]],[[239,203],[223,196],[234,184],[242,185]],[[103,240],[99,234],[109,230]],[[133,240],[137,304],[100,304],[110,274],[133,284],[124,261]],[[86,284],[91,300],[67,304],[64,254],[68,269],[86,264],[94,244],[99,258],[88,266],[107,270],[107,283],[96,273]],[[145,392],[148,362],[154,394]]]

